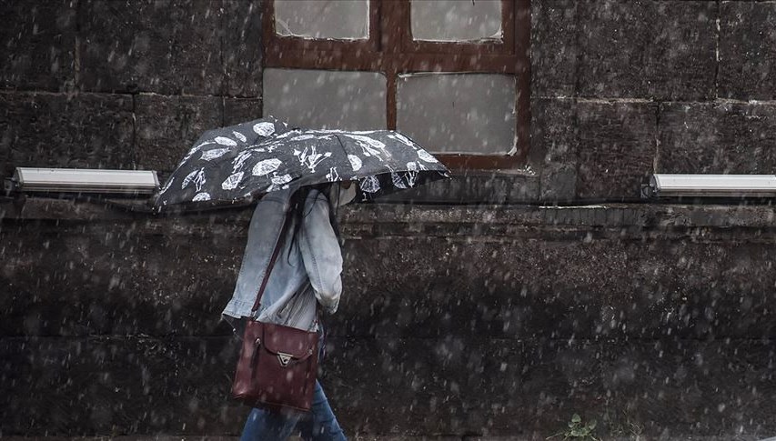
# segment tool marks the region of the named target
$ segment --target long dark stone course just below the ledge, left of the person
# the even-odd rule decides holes
[[[106,223],[82,235],[64,225],[4,228],[0,305],[8,319],[0,335],[231,334],[220,313],[245,230],[201,219],[158,236],[145,224]]]

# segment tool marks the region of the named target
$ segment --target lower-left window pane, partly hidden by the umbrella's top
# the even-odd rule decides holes
[[[386,128],[386,77],[378,72],[264,70],[264,115],[305,128]]]

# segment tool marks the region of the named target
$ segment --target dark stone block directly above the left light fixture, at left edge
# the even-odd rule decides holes
[[[133,168],[132,98],[0,94],[0,175],[17,166]]]

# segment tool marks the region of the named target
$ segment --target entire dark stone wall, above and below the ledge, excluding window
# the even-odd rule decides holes
[[[536,204],[630,200],[654,172],[773,173],[776,4],[531,3],[535,173],[342,213],[323,376],[343,425],[543,439],[579,412],[601,436],[776,434],[771,207]],[[201,130],[257,117],[259,9],[3,3],[0,175],[164,174]],[[2,199],[0,434],[236,434],[218,312],[248,215]]]

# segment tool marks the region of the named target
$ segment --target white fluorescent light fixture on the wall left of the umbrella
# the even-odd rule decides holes
[[[152,170],[16,167],[12,189],[22,192],[153,194],[159,178]]]

